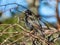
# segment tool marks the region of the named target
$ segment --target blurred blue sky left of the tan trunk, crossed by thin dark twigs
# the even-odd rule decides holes
[[[0,0],[0,5],[5,5],[5,4],[9,4],[9,3],[17,3],[17,4],[20,4],[20,5],[23,5],[24,7],[28,7],[28,4],[27,4],[26,0],[20,0],[20,1],[19,0]],[[0,17],[0,21],[4,21],[4,20],[6,20],[8,18],[11,18],[12,15],[11,15],[9,9],[14,8],[16,6],[17,5],[15,5],[15,4],[8,5],[8,6],[0,6],[0,11],[2,11],[2,12],[5,11],[2,14],[2,16]],[[8,11],[6,11],[6,10],[8,10]],[[22,11],[22,10],[24,10],[24,8],[22,8],[20,6],[19,10]],[[12,11],[14,11],[14,9],[12,9]]]

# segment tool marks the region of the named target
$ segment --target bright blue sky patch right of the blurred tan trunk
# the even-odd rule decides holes
[[[48,2],[48,5],[45,5],[44,2]],[[57,19],[55,17],[56,16],[56,1],[55,0],[51,0],[51,2],[49,0],[42,1],[39,5],[38,10],[39,10],[39,14],[41,14],[41,16],[43,16],[43,18],[46,21],[50,23],[57,23]],[[58,4],[58,10],[60,12],[60,3]]]

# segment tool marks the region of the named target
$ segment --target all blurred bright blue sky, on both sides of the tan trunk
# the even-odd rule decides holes
[[[48,2],[48,4],[50,6],[45,5],[44,2]],[[17,3],[17,4],[23,5],[24,7],[28,8],[28,3],[26,2],[26,0],[0,0],[0,5],[5,5],[8,3]],[[6,7],[3,6],[3,7],[0,7],[0,10],[4,11],[4,10],[8,10],[8,9],[16,7],[16,6],[17,5],[8,5]],[[56,23],[57,20],[55,17],[55,14],[56,14],[55,7],[56,7],[55,0],[52,0],[51,2],[49,0],[44,0],[39,4],[38,12],[41,16],[45,16],[42,18],[44,18],[46,21],[48,21],[50,23]],[[59,3],[59,7],[60,7],[60,3]],[[58,9],[60,11],[60,8],[58,8]],[[19,10],[24,10],[24,8],[20,7]],[[14,11],[14,10],[12,10],[12,11]],[[52,16],[52,17],[48,18],[47,16]],[[11,15],[10,11],[8,10],[2,14],[2,16],[0,17],[0,21],[8,19],[10,17],[12,17],[12,15]]]

